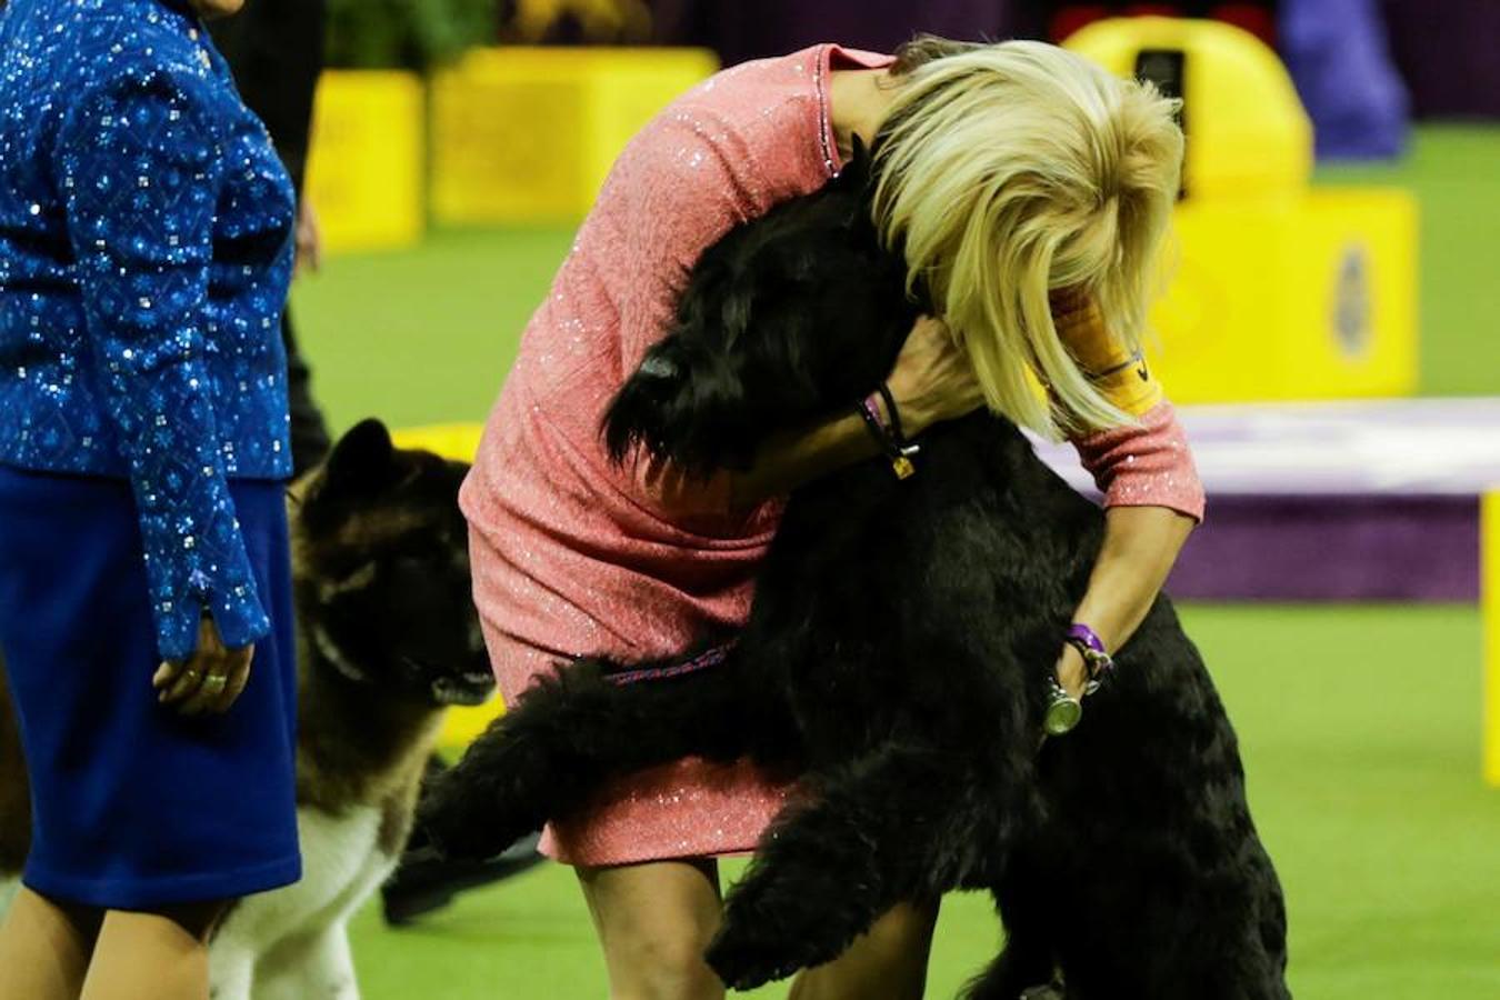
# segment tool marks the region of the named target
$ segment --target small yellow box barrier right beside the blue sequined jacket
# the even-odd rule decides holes
[[[411,246],[424,228],[416,73],[330,70],[318,82],[308,196],[328,252]]]

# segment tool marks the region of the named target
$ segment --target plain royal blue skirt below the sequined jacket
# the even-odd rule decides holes
[[[0,651],[32,780],[22,880],[141,910],[296,882],[297,669],[282,483],[230,483],[272,634],[225,715],[156,702],[129,483],[0,465]]]

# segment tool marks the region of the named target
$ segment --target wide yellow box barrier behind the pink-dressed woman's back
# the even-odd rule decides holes
[[[432,213],[582,217],[651,117],[717,69],[705,49],[476,49],[432,84]]]

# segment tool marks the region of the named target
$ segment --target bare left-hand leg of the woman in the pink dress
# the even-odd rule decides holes
[[[610,1000],[722,1000],[704,961],[722,900],[712,861],[579,868],[604,949]]]

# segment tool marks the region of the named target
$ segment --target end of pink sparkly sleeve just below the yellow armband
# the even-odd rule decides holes
[[[1203,520],[1203,483],[1170,402],[1152,406],[1136,426],[1101,430],[1072,447],[1104,493],[1104,507],[1170,507]]]

